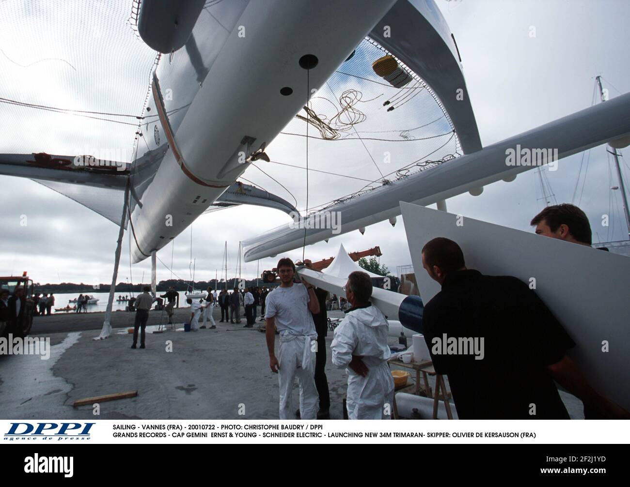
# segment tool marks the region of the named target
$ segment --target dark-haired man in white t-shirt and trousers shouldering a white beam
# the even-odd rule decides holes
[[[295,265],[287,257],[278,261],[280,286],[266,298],[266,341],[269,366],[278,372],[280,419],[294,418],[292,389],[297,377],[300,386],[300,417],[315,419],[319,395],[315,386],[317,332],[311,313],[319,313],[313,286],[302,279],[294,282]],[[275,355],[275,327],[280,333],[278,357]]]

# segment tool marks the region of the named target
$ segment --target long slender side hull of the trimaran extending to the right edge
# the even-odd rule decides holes
[[[558,158],[562,159],[628,134],[630,94],[624,94],[484,147],[473,154],[457,157],[426,171],[390,182],[357,198],[329,206],[326,211],[340,212],[340,233],[352,232],[400,215],[400,201],[426,206],[491,182],[511,180],[520,172],[536,167],[507,165],[506,151],[515,150],[517,145],[522,149],[528,148],[532,154],[536,154],[539,148],[557,148]],[[304,225],[302,228],[296,227],[295,223],[290,223],[244,241],[245,261],[250,262],[302,247],[305,242]],[[333,237],[332,232],[331,228],[308,228],[306,245]]]

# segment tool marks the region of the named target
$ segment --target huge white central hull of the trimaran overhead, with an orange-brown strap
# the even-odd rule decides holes
[[[168,86],[157,76],[158,66],[149,104],[160,115],[158,131],[169,145],[131,213],[133,261],[164,247],[218,199],[248,167],[247,161],[241,163],[243,154],[264,148],[304,106],[307,76],[311,87],[321,87],[394,3],[250,1],[210,65],[195,66],[198,77],[205,77],[193,99],[173,92],[189,105],[176,123],[168,106],[162,106]],[[205,50],[217,47],[197,37],[203,61]],[[189,44],[181,55],[200,64]],[[300,65],[304,55],[318,60],[308,75]],[[281,94],[285,87],[292,94]]]

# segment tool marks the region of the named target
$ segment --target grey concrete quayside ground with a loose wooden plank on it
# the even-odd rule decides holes
[[[176,322],[189,316],[176,310]],[[37,316],[33,336],[50,337],[50,359],[38,355],[0,356],[0,419],[277,419],[278,376],[270,371],[265,333],[256,328],[219,323],[216,330],[147,333],[147,349],[130,349],[134,313],[114,313],[112,336],[98,336],[104,313]],[[342,316],[331,311],[329,316]],[[150,328],[166,322],[151,311]],[[258,322],[256,322],[258,325]],[[346,374],[328,363],[331,418],[341,419]],[[396,343],[391,339],[391,344]],[[276,340],[276,346],[278,342]],[[172,351],[169,351],[172,350]],[[434,381],[431,383],[435,387]],[[83,398],[137,389],[138,396],[73,408]],[[572,418],[581,418],[581,402],[561,392]],[[299,392],[294,389],[294,407]]]

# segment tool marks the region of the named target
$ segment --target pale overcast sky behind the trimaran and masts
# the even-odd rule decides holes
[[[72,37],[67,32],[72,31],[73,27],[64,25],[60,3],[51,2],[47,11],[37,13],[24,8],[25,4],[28,6],[33,2],[8,0],[0,3],[0,49],[3,50],[0,52],[0,72],[6,72],[8,67],[12,67],[13,73],[12,79],[6,79],[2,75],[0,98],[19,98],[31,103],[46,101],[54,106],[77,106],[72,105],[72,93],[61,93],[54,86],[49,87],[48,93],[42,93],[41,82],[30,84],[29,81],[41,81],[48,70],[54,70],[55,74],[65,70],[67,76],[77,76],[80,59],[71,63],[72,67],[60,61],[38,62],[52,57],[70,59]],[[126,18],[130,2],[119,4],[117,9],[113,9],[112,16],[100,11],[86,14],[85,25],[81,26],[83,34],[87,33],[95,40],[102,39],[103,35],[110,35],[106,28],[98,25],[96,19],[105,16],[108,21],[118,22],[121,18]],[[604,87],[609,89],[610,98],[630,91],[630,68],[627,64],[630,3],[625,0],[438,0],[437,4],[457,40],[467,88],[484,146],[587,108],[592,103],[594,77],[598,74],[603,77]],[[37,42],[42,47],[37,48],[38,52],[32,52],[33,47],[30,45],[31,51],[25,52],[24,49],[28,47],[24,46],[28,44],[26,38],[21,36],[25,35],[23,31],[26,27],[21,21],[28,20],[33,25],[42,18],[52,19],[50,28],[47,30],[47,26],[39,25],[37,30],[43,33],[34,41],[29,41]],[[128,29],[129,26],[125,28]],[[533,37],[532,28],[536,33]],[[69,53],[59,53],[64,43],[70,45],[66,47]],[[50,49],[50,53],[41,52],[46,49]],[[121,80],[125,80],[125,76],[129,76],[129,80],[135,80],[133,86],[127,80],[130,87],[125,90],[125,96],[133,99],[99,99],[100,103],[113,105],[112,111],[119,109],[117,103],[125,107],[137,106],[134,113],[142,108],[153,53],[148,48],[143,50],[140,42],[137,49],[142,53],[142,60],[131,67],[128,64],[117,64],[117,59],[123,54],[120,50],[117,52],[116,48],[112,52],[93,54],[98,59],[105,59],[101,62],[107,62],[112,70],[120,69],[123,73]],[[16,66],[15,62],[22,66]],[[35,62],[38,64],[29,65]],[[139,79],[140,82],[137,81]],[[82,89],[86,92],[98,92],[101,89],[106,91],[107,86],[102,86],[102,80],[94,82],[95,87],[89,89],[77,83],[77,92]],[[37,95],[33,91],[36,89],[40,90]],[[94,109],[94,106],[92,104],[90,109]],[[0,104],[0,126],[3,127],[0,152],[45,151],[62,154],[63,148],[69,150],[68,147],[82,147],[85,143],[81,135],[81,124],[88,126],[89,123],[97,123],[83,119],[79,122],[68,122],[68,125],[57,124],[51,127],[50,123],[57,123],[53,119],[47,121],[45,116],[37,112],[30,115],[30,120],[17,120],[15,112]],[[120,126],[113,129],[115,132],[110,132],[109,129],[107,132],[100,132],[103,141],[110,141],[103,144],[111,143],[112,138],[129,140],[129,143],[117,143],[124,150],[130,150],[135,128],[118,125]],[[90,137],[90,143],[94,144],[93,133]],[[35,142],[37,147],[25,147]],[[282,145],[283,143],[288,145]],[[278,142],[277,148],[274,148],[274,143],[270,143],[267,152],[272,159],[281,158],[287,147],[292,147],[291,143],[294,142]],[[297,160],[292,163],[304,165],[301,160],[303,158],[299,148],[295,148]],[[627,238],[624,235],[626,229],[620,211],[619,191],[610,190],[610,186],[617,186],[617,182],[614,173],[612,180],[610,179],[612,166],[607,160],[604,147],[591,151],[583,190],[586,162],[583,164],[582,178],[576,191],[581,159],[581,154],[573,155],[559,162],[558,171],[546,172],[556,201],[579,202],[592,222],[594,242]],[[310,167],[318,167],[314,164],[316,162],[309,162]],[[630,181],[630,163],[621,159],[621,164],[626,181]],[[351,170],[352,174],[358,172],[353,167],[340,165],[338,168],[338,172],[343,174],[350,174],[348,171]],[[369,177],[372,176],[374,175],[370,174]],[[253,167],[246,171],[244,177],[260,183],[270,191],[276,189],[271,185],[265,186],[265,179]],[[290,184],[292,193],[298,200],[298,208],[303,209],[306,203],[304,171],[287,171],[285,177],[287,185]],[[329,198],[325,197],[328,192],[336,193],[337,196],[348,193],[343,181],[334,182],[336,186],[331,184],[331,188],[320,191],[318,197],[321,181],[315,184],[311,181],[310,206],[313,202],[328,201]],[[0,204],[3,208],[0,215],[3,232],[0,241],[0,274],[21,274],[22,271],[28,271],[40,283],[66,281],[92,284],[110,281],[118,233],[116,225],[37,182],[0,176],[0,184]],[[322,196],[324,193],[325,196]],[[290,199],[286,193],[280,191],[278,194]],[[544,206],[540,198],[539,176],[536,171],[528,171],[520,174],[514,182],[497,182],[487,186],[481,196],[464,194],[449,199],[447,205],[452,213],[530,231],[529,220]],[[601,216],[609,212],[612,224],[608,228],[602,227],[599,223]],[[28,225],[20,225],[21,215],[28,217]],[[280,211],[251,206],[200,216],[193,224],[192,232],[192,254],[196,259],[195,278],[211,279],[215,276],[215,269],[219,269],[221,276],[226,240],[229,277],[233,276],[239,240],[255,237],[288,221],[289,217]],[[130,276],[128,242],[125,233],[118,281],[125,281],[130,277],[134,283],[139,283],[143,272],[144,282],[149,281],[148,260],[132,266]],[[381,263],[391,271],[396,271],[396,266],[411,264],[401,217],[398,218],[395,228],[384,221],[367,227],[365,235],[356,231],[331,238],[328,244],[321,242],[309,246],[306,249],[307,258],[317,260],[333,256],[341,243],[348,251],[365,250],[379,245],[383,252]],[[190,228],[175,239],[172,255],[176,275],[184,279],[190,278]],[[294,259],[301,258],[302,250],[289,252],[288,255]],[[171,245],[160,250],[158,257],[170,266]],[[254,277],[258,271],[273,267],[275,262],[277,259],[263,259],[260,263],[243,262],[242,275]],[[158,280],[169,277],[171,273],[158,263]]]

